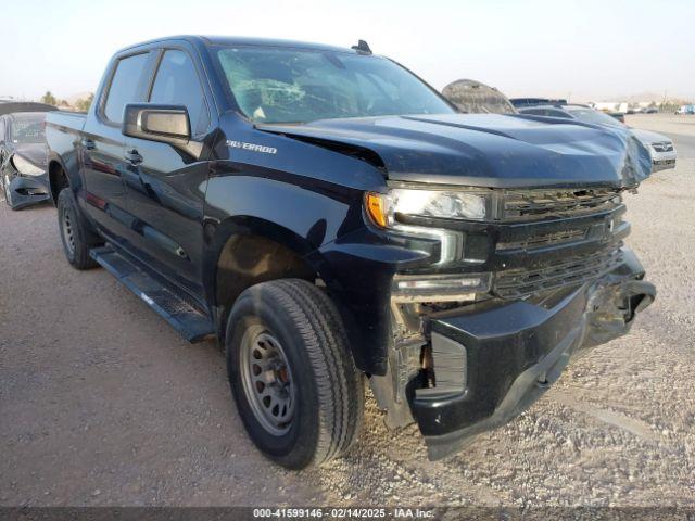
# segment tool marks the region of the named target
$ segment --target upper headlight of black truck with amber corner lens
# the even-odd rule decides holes
[[[366,206],[369,217],[376,225],[390,228],[396,224],[397,214],[483,220],[489,215],[489,193],[484,191],[394,188],[387,194],[368,192]]]

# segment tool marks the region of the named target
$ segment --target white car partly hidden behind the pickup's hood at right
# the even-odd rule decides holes
[[[577,104],[540,104],[535,106],[521,107],[519,109],[519,112],[521,114],[563,117],[566,119],[578,119],[580,122],[591,123],[594,125],[629,129],[649,152],[649,155],[652,156],[652,171],[675,168],[678,154],[673,147],[673,140],[662,134],[628,127],[623,122],[624,117],[622,118],[623,120],[621,120],[586,105]]]

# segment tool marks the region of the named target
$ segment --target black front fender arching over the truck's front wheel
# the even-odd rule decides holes
[[[336,263],[333,255],[342,238],[365,230],[364,193],[384,186],[382,173],[348,154],[258,131],[230,114],[223,117],[220,127],[236,143],[262,145],[276,153],[229,147],[225,141],[215,149],[218,160],[211,165],[204,218],[203,285],[211,308],[215,315],[219,312],[217,263],[229,238],[235,233],[265,237],[296,253],[318,274],[348,326],[357,366],[366,372],[382,372],[382,364],[372,361],[383,357],[366,354],[380,348],[364,342],[371,335],[362,334],[363,325],[356,318],[374,307],[356,314],[355,302],[343,300],[345,285],[353,281],[345,268],[352,268]]]

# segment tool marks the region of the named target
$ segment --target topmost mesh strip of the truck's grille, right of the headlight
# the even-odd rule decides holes
[[[540,219],[610,209],[620,204],[615,190],[532,190],[505,192],[503,218]]]

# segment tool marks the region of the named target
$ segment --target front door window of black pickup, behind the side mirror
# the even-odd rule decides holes
[[[210,126],[203,88],[193,62],[184,51],[170,49],[164,52],[152,86],[150,102],[186,106],[193,135],[204,132]]]

